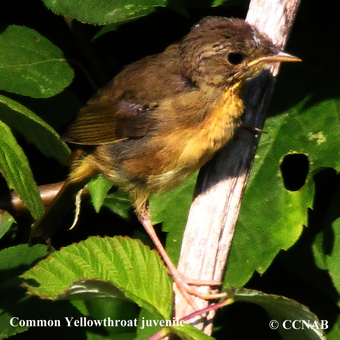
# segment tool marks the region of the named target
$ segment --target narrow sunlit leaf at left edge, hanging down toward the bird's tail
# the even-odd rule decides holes
[[[34,182],[28,160],[10,128],[0,121],[0,172],[10,189],[14,189],[34,219],[44,215],[44,205]]]

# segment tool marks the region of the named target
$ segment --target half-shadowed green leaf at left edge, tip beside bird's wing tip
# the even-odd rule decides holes
[[[18,102],[0,95],[0,119],[22,133],[29,143],[61,164],[69,163],[70,149],[60,136],[36,114]]]

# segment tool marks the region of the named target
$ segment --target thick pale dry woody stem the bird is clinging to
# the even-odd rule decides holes
[[[300,0],[251,0],[246,21],[266,33],[284,49]],[[245,93],[243,125],[262,129],[273,94],[279,64],[250,82]],[[201,169],[195,199],[185,229],[178,269],[194,280],[221,281],[230,249],[240,202],[255,156],[260,134],[239,129],[216,157]],[[192,307],[175,289],[175,315],[182,318]],[[216,293],[210,287],[202,293]],[[200,309],[208,301],[194,297]],[[211,334],[215,311],[192,318],[189,323]]]

